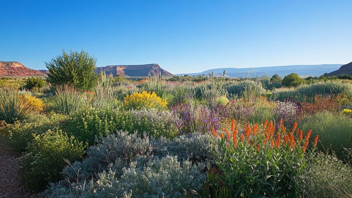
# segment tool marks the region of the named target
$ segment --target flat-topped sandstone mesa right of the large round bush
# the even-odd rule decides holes
[[[141,64],[141,65],[111,65],[106,67],[97,67],[94,72],[99,73],[100,71],[105,71],[106,74],[112,74],[113,76],[133,76],[142,77],[148,76],[158,76],[159,72],[163,76],[172,76],[172,74],[164,69],[162,69],[158,64]]]

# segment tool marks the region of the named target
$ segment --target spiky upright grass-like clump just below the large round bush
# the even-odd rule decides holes
[[[52,108],[54,111],[64,115],[70,115],[86,106],[86,99],[83,98],[80,90],[73,85],[56,86],[53,99]]]

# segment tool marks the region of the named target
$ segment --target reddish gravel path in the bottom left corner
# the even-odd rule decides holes
[[[36,197],[21,185],[19,166],[19,157],[0,142],[0,197]]]

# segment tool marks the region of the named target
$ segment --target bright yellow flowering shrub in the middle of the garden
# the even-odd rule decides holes
[[[140,110],[147,109],[165,109],[167,103],[165,99],[158,97],[155,92],[136,92],[125,97],[124,106],[126,109]]]

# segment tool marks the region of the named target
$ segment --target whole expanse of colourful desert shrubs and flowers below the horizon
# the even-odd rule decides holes
[[[62,81],[65,62],[85,71]],[[130,81],[83,50],[47,65],[49,83],[0,88],[1,141],[39,196],[352,197],[350,80]]]

